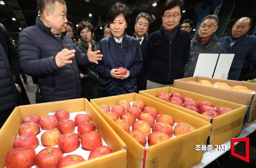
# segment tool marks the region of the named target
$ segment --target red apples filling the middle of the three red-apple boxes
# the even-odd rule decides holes
[[[175,123],[170,115],[158,115],[155,108],[146,107],[141,100],[131,103],[120,100],[112,108],[106,104],[99,105],[99,108],[144,147],[196,130],[190,124]]]

